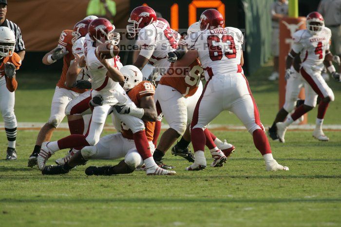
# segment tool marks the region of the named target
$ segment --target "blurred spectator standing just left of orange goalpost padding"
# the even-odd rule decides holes
[[[279,21],[288,15],[288,1],[287,0],[276,0],[271,5],[271,20],[272,20],[272,41],[271,41],[271,51],[273,56],[273,72],[271,76],[268,77],[269,80],[276,80],[279,77],[278,67],[279,67],[279,55],[280,55],[280,29]]]

